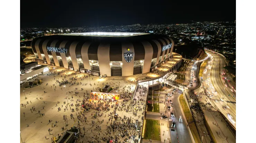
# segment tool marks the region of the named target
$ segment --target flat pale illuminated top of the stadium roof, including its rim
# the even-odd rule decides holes
[[[77,35],[77,36],[102,36],[102,37],[127,37],[145,35],[149,33],[127,33],[127,32],[85,32],[85,33],[68,33],[61,35]]]

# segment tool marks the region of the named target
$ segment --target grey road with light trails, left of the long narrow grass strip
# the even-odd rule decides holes
[[[173,91],[171,90],[169,93],[171,94]],[[182,92],[181,92],[182,93]],[[182,115],[182,111],[181,108],[179,106],[179,96],[181,95],[181,93],[179,93],[179,91],[174,92],[174,95],[172,97],[168,97],[169,100],[172,100],[173,102],[173,106],[171,106],[171,103],[167,103],[168,101],[166,101],[166,107],[171,106],[171,110],[168,110],[168,108],[166,108],[167,110],[167,115],[169,115],[169,119],[176,121],[176,125],[175,128],[171,128],[171,129],[175,129],[175,131],[170,131],[171,134],[171,140],[172,143],[176,143],[177,141],[179,141],[180,143],[192,143],[192,139],[190,137],[188,128],[186,127],[186,123],[185,123],[185,119],[183,118]],[[174,117],[171,116],[171,112],[173,112]],[[182,118],[182,122],[179,121],[179,118]],[[161,119],[163,120],[163,119]],[[170,129],[170,130],[171,130]],[[177,139],[178,137],[178,139]]]

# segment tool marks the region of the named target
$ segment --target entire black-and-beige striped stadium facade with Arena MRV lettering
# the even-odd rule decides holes
[[[172,56],[174,41],[170,36],[112,34],[101,32],[43,36],[35,38],[31,46],[37,61],[42,63],[83,72],[90,70],[107,76],[148,73],[150,68]]]

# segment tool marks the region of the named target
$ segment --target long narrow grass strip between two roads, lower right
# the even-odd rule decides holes
[[[188,121],[188,123],[193,121],[192,114],[189,111],[189,107],[188,107],[188,105],[187,105],[187,103],[186,103],[186,101],[183,97],[183,94],[181,94],[179,100],[180,100],[180,103],[182,105],[182,110],[185,114],[186,120]],[[196,127],[195,127],[195,123],[189,124],[189,127],[190,127],[191,133],[192,133],[192,135],[195,139],[195,142],[200,143],[200,139],[199,139],[199,136],[198,136],[198,131],[196,130]]]

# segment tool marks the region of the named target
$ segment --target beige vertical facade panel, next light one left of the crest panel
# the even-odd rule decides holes
[[[101,43],[98,47],[98,60],[100,74],[111,76],[110,58],[109,58],[110,44]]]

